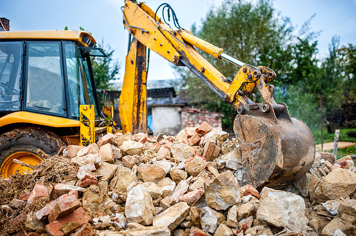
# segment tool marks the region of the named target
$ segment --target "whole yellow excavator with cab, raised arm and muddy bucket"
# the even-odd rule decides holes
[[[290,116],[284,103],[274,101],[274,87],[266,83],[276,78],[275,72],[264,66],[247,65],[230,57],[222,48],[182,29],[174,11],[167,3],[160,7],[169,8],[174,14],[177,30],[172,29],[165,20],[157,16],[157,11],[153,12],[144,3],[126,0],[122,7],[123,23],[130,33],[125,77],[119,101],[123,132],[137,133],[147,130],[146,54],[149,49],[176,66],[189,68],[236,110],[233,128],[243,156],[243,185],[252,184],[258,189],[263,186],[281,188],[303,176],[311,168],[314,160],[314,139],[307,125]],[[6,65],[9,64],[3,66],[5,68],[3,70],[10,74],[7,81],[5,79],[3,82],[0,71],[0,86],[4,91],[0,92],[0,97],[3,98],[4,107],[8,108],[0,118],[2,177],[8,176],[11,171],[18,168],[14,167],[11,170],[8,168],[12,159],[18,158],[17,154],[13,154],[16,153],[14,149],[20,150],[23,145],[31,146],[22,143],[22,136],[32,137],[32,141],[50,144],[51,150],[44,150],[47,153],[58,150],[57,147],[62,144],[63,138],[69,140],[70,137],[79,137],[79,104],[94,104],[97,107],[96,123],[100,123],[101,112],[98,109],[89,57],[100,56],[100,52],[103,53],[94,47],[95,41],[88,33],[73,32],[76,34],[73,37],[64,36],[65,33],[61,34],[62,32],[57,33],[55,35],[53,32],[48,33],[46,38],[44,32],[40,36],[36,34],[36,37],[23,36],[20,33],[9,37],[5,33],[0,33],[2,36],[0,53],[4,53],[3,56],[0,54],[0,69],[3,59]],[[11,50],[17,51],[3,50],[1,43],[4,42],[9,44],[9,48],[13,48]],[[226,78],[205,60],[196,48],[239,67],[236,76],[232,80]],[[54,56],[55,52],[57,54]],[[43,56],[46,57],[45,60]],[[55,63],[56,66],[53,66]],[[35,68],[30,69],[31,67]],[[41,77],[44,74],[41,69],[45,69],[45,73],[53,73],[63,85],[37,80],[37,87],[33,86],[31,90],[33,83],[31,76]],[[16,71],[19,74],[16,74]],[[72,83],[74,86],[71,86]],[[42,85],[44,91],[39,89]],[[248,98],[255,87],[265,102],[254,103]],[[60,99],[45,98],[44,95],[48,91],[52,96],[57,96],[57,92],[53,94],[53,91],[63,91],[63,95]],[[38,137],[41,135],[37,134],[45,134],[46,138],[41,139]],[[22,146],[14,145],[15,148],[11,146],[16,144],[16,140],[20,140],[18,144]],[[12,144],[7,145],[7,142]],[[6,149],[7,146],[11,147]],[[44,149],[39,146],[41,145],[36,147]],[[26,151],[30,156],[28,159],[35,160],[31,156],[37,155],[35,147],[31,148],[30,151]],[[25,152],[21,150],[19,157]],[[7,153],[10,153],[10,156]],[[5,174],[3,169],[7,171]]]

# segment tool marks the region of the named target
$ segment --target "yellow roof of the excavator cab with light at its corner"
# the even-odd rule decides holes
[[[1,39],[64,39],[79,41],[85,46],[89,46],[83,41],[83,37],[88,36],[89,39],[96,44],[95,39],[86,31],[1,31]]]

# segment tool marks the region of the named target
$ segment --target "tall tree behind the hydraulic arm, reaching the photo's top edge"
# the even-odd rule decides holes
[[[259,0],[256,5],[224,0],[208,12],[199,30],[194,25],[192,29],[193,34],[222,47],[228,55],[246,64],[277,68],[277,74],[290,70],[291,47],[287,42],[293,36],[292,31],[288,18],[275,16],[271,0]],[[239,69],[224,60],[201,53],[226,77],[233,78]],[[231,129],[236,111],[190,71],[178,68],[178,72],[194,95],[192,104],[201,109],[223,112],[223,128]],[[255,100],[259,100],[259,96],[255,96]]]

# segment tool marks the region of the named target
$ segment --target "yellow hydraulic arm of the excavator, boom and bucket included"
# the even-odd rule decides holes
[[[168,4],[165,6],[170,7]],[[289,115],[288,107],[284,103],[274,101],[274,86],[266,84],[276,78],[273,70],[264,66],[247,65],[230,57],[222,48],[182,29],[177,20],[175,25],[178,30],[173,30],[144,3],[136,4],[126,0],[122,9],[124,25],[134,37],[132,44],[139,43],[140,46],[155,51],[176,66],[188,67],[210,89],[236,109],[234,131],[242,150],[243,184],[252,184],[258,189],[263,186],[282,187],[300,178],[310,169],[315,154],[312,133],[302,121]],[[173,18],[177,19],[174,11],[172,13]],[[226,78],[205,60],[195,47],[240,67],[236,76],[232,80]],[[142,96],[145,96],[143,90],[145,90],[146,71],[140,70],[141,64],[137,65],[134,60],[128,61],[133,53],[132,50],[136,51],[136,48],[131,45],[128,53],[123,90],[126,80],[136,81],[137,78],[144,77],[138,79],[141,81],[139,83],[142,89],[139,93],[136,93],[135,89],[130,90],[130,99],[133,100],[129,100],[141,101],[145,106]],[[133,67],[135,64],[136,66]],[[136,73],[139,71],[142,71],[142,76]],[[136,86],[136,82],[134,84]],[[265,102],[254,103],[248,98],[255,87]],[[124,105],[120,101],[120,106]],[[133,120],[145,121],[145,113],[140,113],[138,109],[134,113],[134,109],[135,103],[132,110],[127,112],[128,116],[124,122],[130,120],[130,114]],[[142,116],[137,119],[136,115]],[[127,124],[130,122],[123,124],[123,127],[130,128]],[[132,127],[134,125],[133,121]]]

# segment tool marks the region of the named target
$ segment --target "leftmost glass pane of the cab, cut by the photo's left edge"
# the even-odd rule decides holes
[[[20,109],[22,42],[0,42],[0,110]]]

